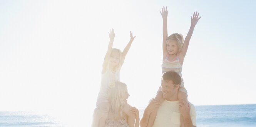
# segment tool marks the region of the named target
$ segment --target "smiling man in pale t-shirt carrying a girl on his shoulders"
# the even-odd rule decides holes
[[[164,101],[153,100],[146,107],[142,119],[141,127],[180,127],[180,115],[183,116],[185,127],[196,127],[196,110],[193,104],[179,102],[178,91],[181,84],[181,77],[173,71],[165,72],[162,75],[161,91]],[[161,105],[160,105],[161,104]],[[157,110],[155,120],[149,120],[151,112]]]

